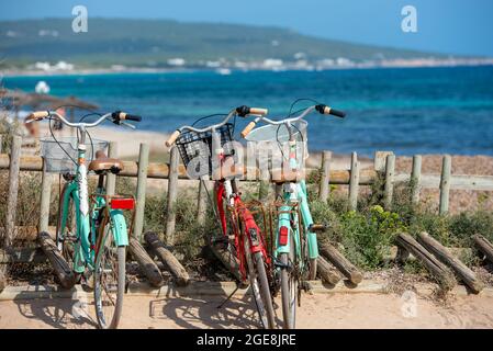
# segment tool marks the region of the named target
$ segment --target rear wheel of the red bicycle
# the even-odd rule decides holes
[[[264,256],[260,251],[255,252],[254,256],[251,256],[248,238],[245,238],[245,256],[248,265],[248,278],[250,280],[251,294],[254,296],[262,327],[265,329],[274,329],[276,321],[272,296],[270,294]]]

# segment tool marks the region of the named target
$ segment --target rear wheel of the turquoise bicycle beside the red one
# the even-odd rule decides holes
[[[281,261],[281,301],[282,301],[282,318],[284,329],[294,329],[296,319],[296,296],[298,296],[298,280],[295,276],[294,267],[294,240],[291,235],[291,247],[289,253],[281,253],[279,259]],[[291,265],[291,269],[288,268]]]

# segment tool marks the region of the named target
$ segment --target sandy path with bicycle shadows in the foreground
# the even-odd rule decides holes
[[[256,328],[249,297],[217,309],[222,297],[126,297],[122,328]],[[280,309],[278,308],[278,313]],[[0,302],[2,328],[93,328],[91,302]],[[302,299],[299,328],[493,328],[493,298],[455,297],[448,305],[399,295],[317,294]]]

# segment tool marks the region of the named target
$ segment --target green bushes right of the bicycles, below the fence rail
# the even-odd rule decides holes
[[[439,216],[429,206],[413,205],[410,185],[402,185],[396,189],[392,208],[386,211],[380,190],[381,181],[378,180],[371,193],[360,199],[357,212],[348,211],[346,197],[335,192],[327,203],[311,203],[314,220],[328,226],[325,239],[338,244],[350,261],[366,270],[388,264],[385,257],[390,254],[395,236],[403,231],[413,236],[427,231],[448,247],[470,248],[474,234],[493,240],[493,214],[484,208]],[[474,262],[472,254],[462,259],[468,263]],[[408,269],[416,270],[415,267]]]

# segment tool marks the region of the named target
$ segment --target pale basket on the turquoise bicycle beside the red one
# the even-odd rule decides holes
[[[300,120],[291,124],[296,140],[296,158],[309,157],[306,127],[309,123]],[[289,152],[289,131],[285,125],[264,125],[251,131],[245,138],[247,143],[255,143],[257,149],[272,150],[272,157],[282,157]],[[282,149],[282,152],[281,152]]]

